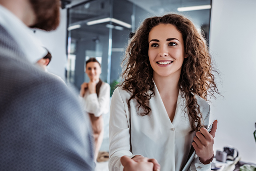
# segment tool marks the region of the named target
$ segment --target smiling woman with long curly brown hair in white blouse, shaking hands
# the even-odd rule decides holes
[[[110,170],[210,170],[207,95],[218,93],[204,38],[187,18],[146,19],[129,42],[110,107]],[[193,142],[194,141],[194,142]]]

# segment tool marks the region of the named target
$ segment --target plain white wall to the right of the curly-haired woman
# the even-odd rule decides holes
[[[256,1],[213,0],[210,51],[220,71],[211,121],[218,119],[214,148],[236,147],[242,161],[256,162]]]

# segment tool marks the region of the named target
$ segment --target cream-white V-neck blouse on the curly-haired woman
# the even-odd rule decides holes
[[[117,88],[112,96],[110,106],[110,146],[109,170],[123,171],[120,158],[127,155],[132,158],[142,155],[155,158],[161,170],[180,171],[185,164],[195,134],[191,131],[188,115],[185,114],[185,99],[178,97],[177,109],[173,122],[170,121],[160,94],[154,88],[155,96],[149,100],[151,112],[146,116],[138,115],[138,103],[128,100],[131,93]],[[209,104],[197,96],[204,123],[209,123]],[[210,164],[203,164],[197,157],[190,167],[191,170],[211,170]]]

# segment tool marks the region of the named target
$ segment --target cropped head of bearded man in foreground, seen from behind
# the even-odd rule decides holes
[[[51,31],[60,22],[60,0],[0,0],[0,5],[30,28]]]

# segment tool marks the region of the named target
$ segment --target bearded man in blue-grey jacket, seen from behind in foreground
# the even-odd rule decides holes
[[[47,51],[58,0],[0,0],[1,170],[94,170],[90,123],[66,85],[34,66]]]

